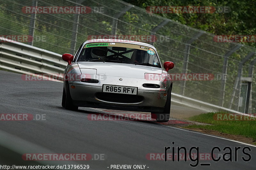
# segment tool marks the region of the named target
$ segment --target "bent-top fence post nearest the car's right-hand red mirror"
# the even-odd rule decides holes
[[[185,55],[183,58],[183,67],[182,67],[182,73],[187,74],[188,73],[188,58],[189,58],[189,52],[190,52],[190,45],[196,40],[198,39],[204,32],[199,32],[196,33],[191,39],[189,39],[186,42],[186,46],[185,46]],[[186,88],[186,81],[181,81],[180,82],[180,93],[182,95],[185,94],[185,88]]]

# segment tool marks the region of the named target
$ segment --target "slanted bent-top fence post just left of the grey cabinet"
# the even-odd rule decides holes
[[[255,52],[251,52],[248,55],[246,55],[244,57],[244,59],[240,62],[239,66],[238,66],[238,72],[237,72],[237,76],[236,76],[236,80],[235,80],[235,84],[233,87],[233,92],[232,92],[232,96],[231,96],[231,100],[230,100],[230,104],[229,104],[229,108],[232,107],[233,101],[234,101],[234,97],[236,95],[236,90],[240,91],[240,87],[241,87],[241,76],[242,76],[242,72],[243,72],[243,65],[245,62],[247,62],[250,58],[252,58],[252,56],[255,54]],[[238,86],[239,85],[239,86]],[[237,87],[239,87],[239,89],[237,89]],[[240,96],[240,95],[239,95]],[[237,105],[238,106],[238,105]],[[238,109],[238,107],[237,107]]]

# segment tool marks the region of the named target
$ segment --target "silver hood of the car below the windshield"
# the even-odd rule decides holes
[[[162,69],[157,67],[108,63],[108,62],[77,62],[82,74],[88,74],[88,69],[96,69],[97,75],[145,78],[145,73],[162,74]],[[91,72],[91,71],[89,71]],[[89,73],[90,74],[90,73]]]

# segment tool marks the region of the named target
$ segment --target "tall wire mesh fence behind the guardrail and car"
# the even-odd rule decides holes
[[[256,50],[252,47],[216,42],[213,34],[119,0],[5,0],[0,9],[4,38],[59,54],[74,54],[88,39],[116,35],[153,44],[162,63],[174,62],[170,73],[214,75],[209,81],[193,75],[193,80],[176,78],[173,92],[241,112],[256,111]],[[247,86],[241,93],[244,82],[248,95],[243,95]]]

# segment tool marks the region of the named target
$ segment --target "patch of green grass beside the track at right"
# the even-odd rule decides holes
[[[188,120],[208,123],[211,125],[190,125],[186,128],[202,128],[208,130],[216,130],[222,133],[231,135],[242,135],[245,137],[252,137],[256,139],[256,120],[244,121],[244,120],[217,120],[215,114],[227,114],[225,112],[210,112],[201,115],[196,115],[188,118]],[[223,118],[223,117],[222,117]],[[231,118],[233,118],[231,116]],[[247,117],[248,118],[248,117]]]

